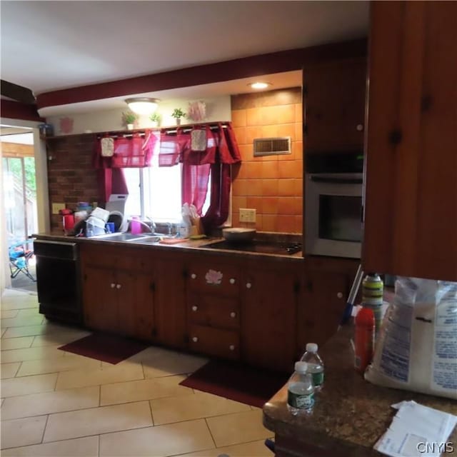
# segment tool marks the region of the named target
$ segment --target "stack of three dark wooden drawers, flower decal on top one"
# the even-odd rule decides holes
[[[236,360],[240,357],[240,264],[219,256],[191,256],[188,261],[189,348]]]

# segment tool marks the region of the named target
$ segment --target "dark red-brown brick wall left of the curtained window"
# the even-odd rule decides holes
[[[62,136],[48,141],[51,208],[53,203],[65,203],[66,208],[74,210],[79,201],[99,201],[97,172],[92,164],[94,141],[94,135]],[[63,230],[58,214],[51,214],[51,230]]]

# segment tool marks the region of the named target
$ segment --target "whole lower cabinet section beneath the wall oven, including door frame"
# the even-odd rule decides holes
[[[333,336],[343,317],[358,261],[308,257],[303,295],[297,308],[297,353],[301,357],[306,343],[321,346]]]

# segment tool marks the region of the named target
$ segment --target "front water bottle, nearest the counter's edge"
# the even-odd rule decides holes
[[[296,362],[295,371],[288,380],[287,408],[293,416],[309,414],[314,406],[314,386],[311,373],[308,373],[308,363]]]

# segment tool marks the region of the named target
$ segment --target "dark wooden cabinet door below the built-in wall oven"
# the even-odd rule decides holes
[[[322,346],[341,323],[348,298],[348,275],[332,271],[306,273],[303,298],[298,304],[298,354],[306,343]]]

